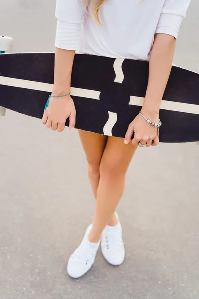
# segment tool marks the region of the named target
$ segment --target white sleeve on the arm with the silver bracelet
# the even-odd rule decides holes
[[[178,32],[191,0],[165,0],[155,33],[178,37]]]

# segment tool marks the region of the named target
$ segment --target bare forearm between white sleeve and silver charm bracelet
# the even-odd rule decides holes
[[[162,97],[171,72],[176,39],[167,34],[156,34],[149,61],[149,81],[142,112],[146,117],[159,114]]]

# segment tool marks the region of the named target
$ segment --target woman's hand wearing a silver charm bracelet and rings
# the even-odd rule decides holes
[[[152,122],[158,123],[159,116],[158,115],[150,115],[145,111],[141,111],[142,114],[149,118]],[[159,136],[158,136],[158,128],[151,126],[151,124],[147,123],[147,121],[138,114],[136,118],[130,123],[128,130],[125,135],[125,144],[128,144],[131,140],[131,137],[134,133],[134,138],[132,139],[132,144],[134,146],[138,145],[138,143],[146,144],[146,147],[157,146],[159,144]]]

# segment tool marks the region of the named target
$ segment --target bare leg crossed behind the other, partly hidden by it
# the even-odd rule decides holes
[[[83,130],[78,130],[78,133],[88,161],[88,177],[92,191],[95,198],[97,198],[97,189],[100,182],[100,163],[108,137]],[[113,213],[108,224],[116,225],[117,222],[117,218]]]

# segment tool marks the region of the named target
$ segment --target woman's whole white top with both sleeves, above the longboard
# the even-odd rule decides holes
[[[57,0],[55,46],[113,58],[149,60],[156,33],[177,38],[190,0],[108,0],[100,25],[82,0]]]

